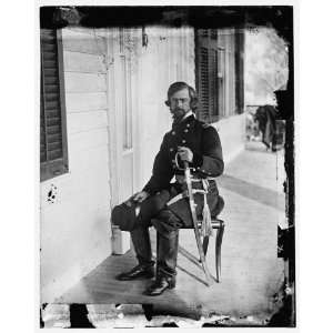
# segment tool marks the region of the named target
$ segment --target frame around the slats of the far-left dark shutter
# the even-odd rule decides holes
[[[51,29],[41,29],[40,30],[40,89],[44,89],[42,84],[42,73],[43,73],[43,60],[42,60],[42,33],[43,30]],[[65,112],[65,93],[64,93],[64,70],[63,70],[63,46],[62,46],[62,32],[61,30],[56,30],[56,39],[57,39],[57,58],[58,58],[58,83],[59,83],[59,104],[60,104],[60,119],[61,119],[61,142],[62,142],[62,157],[56,160],[50,161],[40,161],[40,182],[53,179],[61,174],[69,172],[69,161],[68,161],[68,135],[67,135],[67,112]],[[42,91],[40,90],[40,97],[42,95]],[[44,97],[44,93],[43,93]],[[40,102],[41,98],[40,98]],[[40,112],[44,112],[44,108],[40,105]],[[41,115],[41,114],[40,114]],[[41,117],[39,118],[41,119]],[[44,113],[46,119],[46,113]],[[39,130],[41,130],[41,123],[39,124]],[[44,128],[44,130],[47,130]],[[39,135],[40,140],[40,135]],[[46,133],[46,141],[47,141]],[[39,141],[40,148],[40,141]],[[41,155],[40,155],[41,157]]]

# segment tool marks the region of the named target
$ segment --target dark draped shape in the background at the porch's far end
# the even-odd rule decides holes
[[[273,105],[263,105],[256,109],[254,121],[259,123],[259,130],[262,132],[262,142],[269,149],[273,149],[274,134],[276,130],[278,111]]]

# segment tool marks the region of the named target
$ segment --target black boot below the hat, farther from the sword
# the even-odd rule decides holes
[[[131,231],[131,239],[139,265],[129,272],[115,276],[120,281],[134,279],[151,279],[154,276],[154,261],[152,260],[151,243],[148,228],[139,226]]]

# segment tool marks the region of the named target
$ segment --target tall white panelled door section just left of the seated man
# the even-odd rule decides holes
[[[113,173],[112,206],[128,200],[135,191],[137,170],[137,144],[135,144],[135,119],[137,119],[137,48],[138,38],[134,29],[112,29],[110,33],[110,52],[112,59],[110,67],[110,93],[111,105],[110,142],[111,173]],[[128,232],[113,229],[113,252],[124,253],[130,248]]]

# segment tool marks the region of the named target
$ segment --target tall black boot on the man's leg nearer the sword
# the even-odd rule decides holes
[[[168,234],[158,232],[158,268],[154,283],[144,292],[145,295],[157,296],[168,289],[175,287],[175,266],[178,256],[179,231]]]

